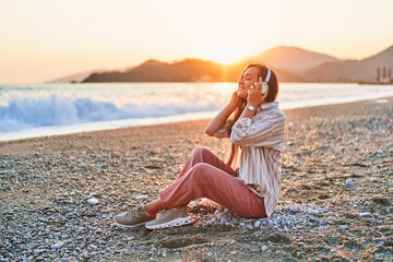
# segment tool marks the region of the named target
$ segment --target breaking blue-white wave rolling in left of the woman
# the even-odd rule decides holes
[[[95,121],[176,116],[187,112],[218,110],[223,105],[212,100],[183,100],[180,104],[126,104],[60,95],[13,98],[0,106],[0,132],[38,127],[68,126]]]

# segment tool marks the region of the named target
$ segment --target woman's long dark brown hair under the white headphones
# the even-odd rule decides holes
[[[257,68],[259,73],[258,73],[258,79],[259,76],[262,76],[263,80],[266,79],[267,75],[267,68],[266,66],[262,64],[262,63],[250,63],[248,64],[242,74],[245,74],[245,71],[248,70],[249,68]],[[274,71],[271,69],[272,75],[269,80],[269,92],[267,92],[267,96],[266,96],[266,102],[274,102],[277,98],[277,94],[278,94],[278,80],[276,74],[274,73]],[[234,114],[230,117],[230,120],[228,120],[230,122],[230,129],[229,129],[229,134],[231,133],[231,128],[234,127],[235,122],[239,119],[241,112],[245,110],[245,107],[247,105],[247,99],[238,97],[237,102],[236,102],[236,109],[234,111]],[[230,145],[230,153],[228,154],[228,157],[226,159],[226,164],[228,166],[233,166],[234,162],[235,162],[235,156],[237,155],[239,151],[239,145],[236,145],[234,143],[231,143]]]

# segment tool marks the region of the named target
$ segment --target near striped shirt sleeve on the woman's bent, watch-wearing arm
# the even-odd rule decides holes
[[[231,129],[230,141],[241,146],[258,146],[269,140],[273,126],[273,121],[269,118],[260,121],[241,118],[235,122]]]

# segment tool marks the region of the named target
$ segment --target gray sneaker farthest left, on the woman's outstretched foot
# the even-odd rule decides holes
[[[121,227],[136,227],[153,219],[154,217],[151,217],[147,214],[143,205],[139,205],[130,212],[122,213],[114,217],[115,223]]]

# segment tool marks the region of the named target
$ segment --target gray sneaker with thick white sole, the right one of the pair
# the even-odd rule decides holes
[[[170,209],[164,211],[164,213],[154,221],[147,222],[145,227],[147,229],[168,228],[176,226],[184,226],[192,223],[191,217],[187,214],[187,206],[180,210]]]

